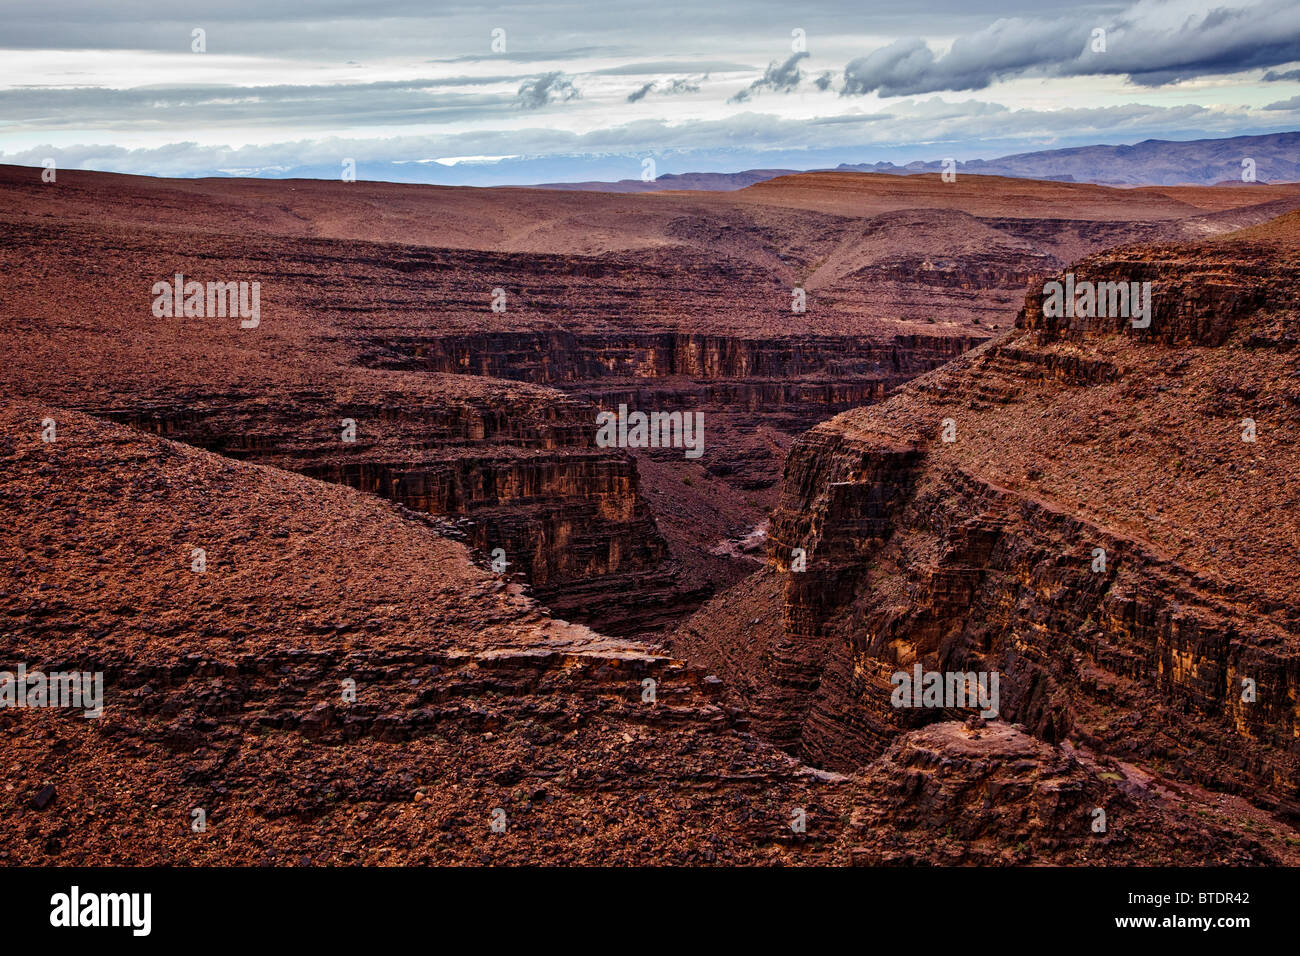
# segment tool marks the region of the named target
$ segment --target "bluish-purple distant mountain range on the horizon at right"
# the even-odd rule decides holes
[[[1105,186],[1213,186],[1243,182],[1243,161],[1253,164],[1257,182],[1300,182],[1300,131],[1261,137],[1192,139],[1173,142],[1147,139],[1134,146],[1078,146],[1067,150],[1018,152],[993,160],[957,164],[957,173],[1010,176],[1022,179],[1095,182]],[[928,163],[841,163],[836,170],[855,173],[942,172],[942,160]],[[801,169],[746,169],[740,173],[673,173],[650,182],[554,182],[536,189],[590,190],[601,193],[651,193],[662,190],[727,191],[753,186]]]

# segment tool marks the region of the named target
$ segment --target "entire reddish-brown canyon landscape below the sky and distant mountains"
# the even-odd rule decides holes
[[[0,862],[1300,862],[1297,209],[0,166]]]

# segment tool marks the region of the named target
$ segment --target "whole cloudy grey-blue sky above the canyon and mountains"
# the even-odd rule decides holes
[[[0,163],[502,185],[1300,129],[1300,0],[0,0]]]

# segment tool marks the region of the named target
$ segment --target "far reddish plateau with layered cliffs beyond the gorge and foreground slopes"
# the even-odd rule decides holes
[[[0,183],[10,394],[463,518],[481,561],[502,549],[618,633],[748,574],[725,542],[763,525],[793,437],[1005,328],[1032,273],[1295,202],[857,174],[677,196]],[[155,317],[177,273],[260,282],[261,324]],[[703,414],[705,457],[594,447],[620,405]]]

